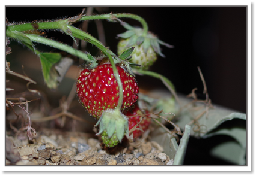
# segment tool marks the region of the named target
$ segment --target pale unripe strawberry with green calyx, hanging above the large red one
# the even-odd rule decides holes
[[[123,25],[127,31],[117,35],[121,38],[117,45],[117,53],[121,54],[124,50],[127,50],[127,48],[135,47],[131,55],[132,58],[129,62],[142,65],[141,69],[147,70],[151,65],[153,65],[157,60],[158,54],[165,57],[161,53],[159,44],[165,45],[169,48],[173,47],[172,45],[159,40],[157,36],[151,32],[144,34],[144,29],[133,28],[127,23],[121,23],[121,25]]]

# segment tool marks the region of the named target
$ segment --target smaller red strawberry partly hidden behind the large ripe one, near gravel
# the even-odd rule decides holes
[[[142,114],[147,114],[149,113],[147,110],[145,110],[145,113],[142,113],[141,109],[138,107],[138,104],[135,104],[135,108],[132,110],[127,111],[126,116],[129,121],[129,131],[130,129],[133,128],[133,126],[137,125],[139,121],[142,119],[141,123],[136,128],[141,128],[143,131],[146,131],[148,127],[150,126],[151,123],[151,118],[148,116],[141,116]],[[135,116],[139,115],[139,116]],[[129,117],[133,116],[133,117]],[[140,130],[135,130],[133,131],[133,138],[139,138],[142,135],[142,131]]]

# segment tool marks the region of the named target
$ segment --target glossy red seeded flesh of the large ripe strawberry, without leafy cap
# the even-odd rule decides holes
[[[122,113],[132,106],[138,99],[139,87],[135,78],[117,66],[118,74],[123,85]],[[76,93],[79,101],[91,114],[99,119],[103,110],[117,107],[119,99],[119,89],[115,80],[112,66],[109,63],[97,66],[94,69],[85,68],[79,74],[76,83]]]

